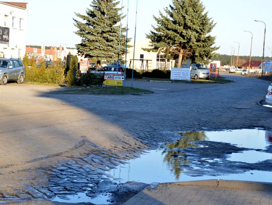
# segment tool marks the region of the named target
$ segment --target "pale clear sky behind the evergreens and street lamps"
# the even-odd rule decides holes
[[[121,0],[120,0],[121,1]],[[76,28],[73,18],[76,13],[85,14],[92,0],[25,0],[28,3],[27,44],[56,45],[74,47],[80,43],[80,38],[74,34]],[[153,15],[158,16],[171,4],[171,0],[138,0],[137,34],[136,40],[145,40],[146,33],[155,25]],[[209,17],[216,22],[211,34],[216,36],[217,51],[221,54],[231,54],[235,47],[235,54],[249,55],[251,34],[253,33],[252,55],[262,56],[264,24],[254,22],[255,19],[265,22],[265,56],[271,56],[272,50],[272,1],[271,0],[202,0]],[[124,10],[127,12],[127,0],[123,0]],[[129,0],[128,36],[134,37],[136,0]],[[126,19],[123,20],[124,26]]]

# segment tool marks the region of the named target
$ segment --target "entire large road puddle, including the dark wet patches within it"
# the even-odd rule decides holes
[[[192,131],[111,170],[120,182],[232,179],[272,182],[272,132],[262,129]]]

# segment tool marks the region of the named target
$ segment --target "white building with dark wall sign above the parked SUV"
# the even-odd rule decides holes
[[[27,3],[0,2],[0,57],[24,57],[27,13]]]

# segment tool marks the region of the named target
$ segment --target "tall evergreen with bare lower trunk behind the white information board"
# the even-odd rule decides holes
[[[209,35],[215,23],[204,10],[200,0],[172,0],[172,5],[164,9],[165,14],[154,16],[157,27],[152,26],[153,31],[146,35],[151,48],[144,50],[178,56],[178,67],[185,58],[192,62],[211,58],[218,49],[214,46],[215,37]]]

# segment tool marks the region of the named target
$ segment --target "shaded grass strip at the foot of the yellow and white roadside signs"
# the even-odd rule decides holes
[[[60,91],[61,93],[69,93],[69,94],[119,94],[119,95],[127,95],[127,94],[150,94],[153,93],[149,90],[139,89],[139,88],[130,88],[130,87],[97,87],[97,88],[76,88],[76,89],[67,89],[65,91]]]

